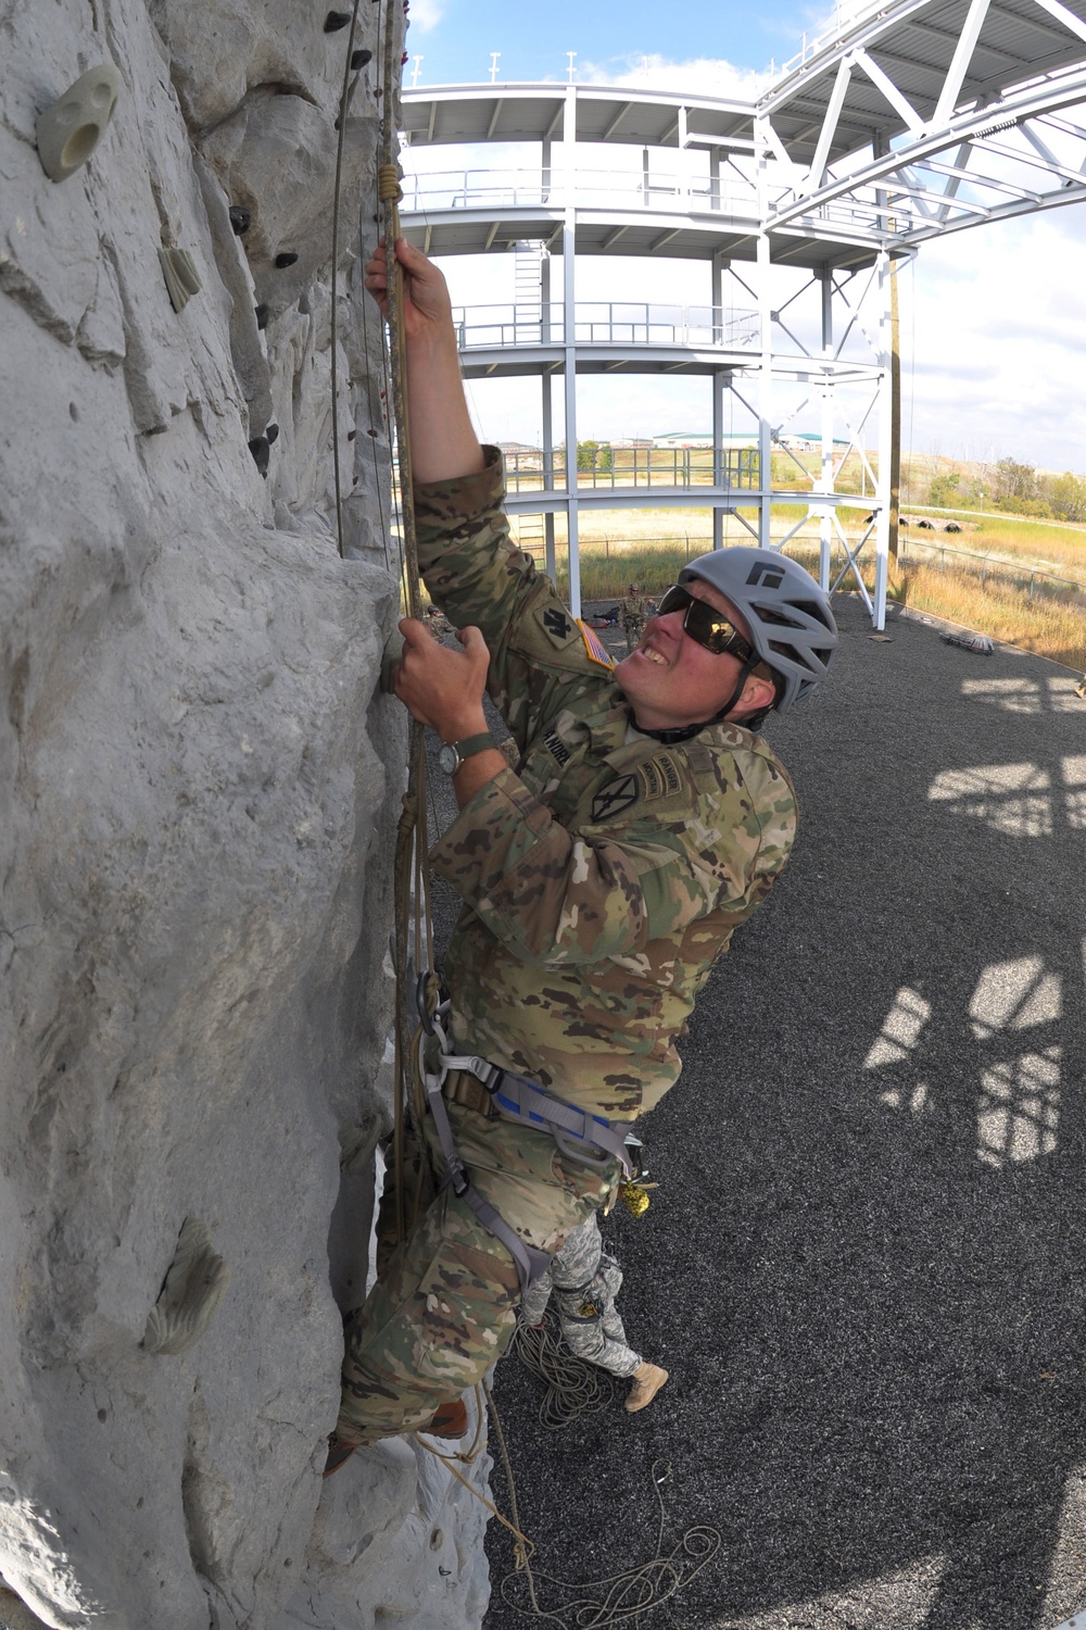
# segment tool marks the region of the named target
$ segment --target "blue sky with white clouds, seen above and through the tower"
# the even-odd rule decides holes
[[[664,90],[754,96],[827,8],[684,7],[648,0],[412,0],[404,83],[568,78]],[[417,60],[420,59],[420,60]],[[415,72],[417,70],[417,72]],[[497,153],[492,163],[501,163]],[[462,160],[449,148],[428,166]],[[505,160],[508,161],[508,158]],[[477,163],[477,155],[474,158]],[[902,272],[902,447],[923,455],[993,461],[1013,456],[1042,469],[1086,473],[1086,251],[1083,205],[952,233],[922,246]],[[453,298],[511,298],[510,267],[444,262]],[[505,279],[505,282],[501,282]],[[661,279],[661,280],[658,280]],[[708,272],[671,262],[578,262],[578,298],[708,302]],[[537,438],[537,386],[477,383],[472,408],[492,440]],[[669,429],[707,429],[705,381],[585,380],[578,434],[606,440]]]

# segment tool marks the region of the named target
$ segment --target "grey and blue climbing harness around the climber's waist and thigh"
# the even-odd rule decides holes
[[[449,1126],[444,1102],[449,1074],[464,1073],[482,1084],[484,1095],[472,1107],[482,1108],[484,1113],[493,1110],[501,1120],[523,1121],[536,1131],[549,1131],[562,1154],[581,1165],[604,1167],[612,1161],[619,1161],[624,1175],[628,1178],[632,1167],[625,1136],[615,1131],[602,1117],[589,1115],[571,1104],[565,1104],[526,1076],[515,1076],[506,1069],[500,1069],[477,1053],[454,1053],[453,1040],[444,1027],[449,1011],[448,998],[438,1001],[433,1012],[430,1012],[427,991],[428,980],[418,980],[415,985],[418,1017],[423,1032],[431,1040],[431,1046],[428,1048],[430,1058],[420,1064],[420,1076],[441,1141],[446,1183],[453,1185],[456,1198],[469,1205],[482,1226],[495,1239],[500,1239],[510,1252],[516,1263],[521,1296],[524,1296],[550,1267],[550,1255],[521,1239],[505,1218],[475,1192],[464,1170],[464,1162],[459,1157],[453,1128]],[[431,1061],[435,1064],[433,1069],[427,1068]],[[456,1102],[456,1097],[453,1102]]]

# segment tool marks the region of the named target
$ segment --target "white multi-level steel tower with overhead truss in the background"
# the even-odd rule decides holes
[[[930,238],[1086,197],[1084,101],[1086,0],[839,8],[757,103],[550,83],[405,91],[407,168],[410,148],[480,147],[479,170],[407,178],[410,240],[438,258],[518,254],[511,316],[459,313],[461,355],[469,378],[541,380],[544,468],[532,491],[511,491],[510,507],[544,513],[552,569],[554,517],[565,513],[575,611],[578,510],[645,504],[646,491],[615,476],[604,489],[578,482],[576,458],[554,447],[555,380],[573,450],[578,373],[700,373],[712,378],[712,481],[689,487],[676,474],[653,487],[651,504],[710,505],[715,544],[741,505],[765,546],[817,526],[824,587],[850,577],[882,628],[894,262]],[[485,168],[498,142],[526,143],[534,161]],[[607,168],[619,147],[640,148],[640,173],[628,152],[627,168]],[[588,254],[702,261],[707,305],[661,316],[650,305],[578,303],[576,258]],[[524,272],[532,256],[537,295]],[[726,401],[754,427],[757,456],[725,445]],[[811,419],[812,471],[793,445]],[[860,494],[840,486],[848,455],[861,466]],[[801,520],[772,536],[772,507],[783,504],[799,505]],[[842,510],[863,517],[852,540]],[[832,580],[835,538],[843,566]],[[871,554],[868,593],[860,567]]]

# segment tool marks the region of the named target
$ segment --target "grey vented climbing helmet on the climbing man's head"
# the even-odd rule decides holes
[[[738,546],[698,554],[679,582],[692,577],[718,588],[746,618],[751,644],[778,675],[778,712],[814,689],[837,647],[837,623],[809,572],[777,549]]]

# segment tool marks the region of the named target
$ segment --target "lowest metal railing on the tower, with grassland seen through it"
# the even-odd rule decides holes
[[[565,448],[511,450],[505,455],[510,492],[562,491]],[[578,447],[580,487],[723,487],[734,492],[759,489],[755,447]]]

